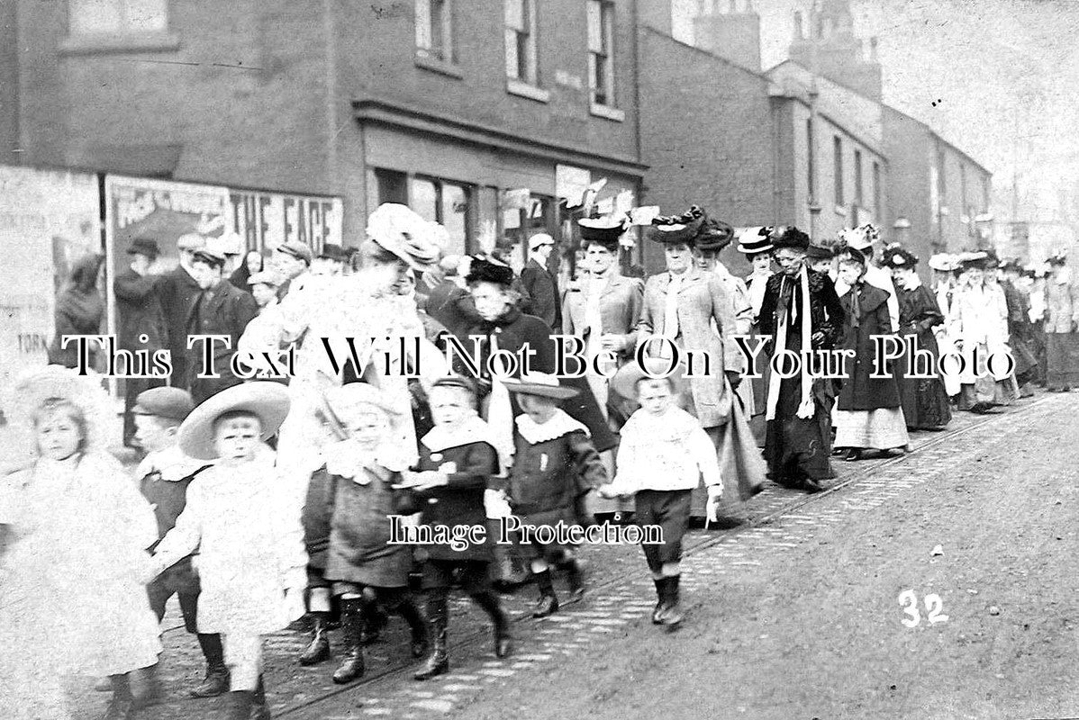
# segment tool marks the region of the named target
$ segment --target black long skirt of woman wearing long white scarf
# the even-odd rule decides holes
[[[776,482],[835,477],[832,454],[832,405],[835,392],[830,380],[814,380],[814,416],[797,416],[802,379],[788,377],[779,384],[776,418],[767,423],[764,457]]]

